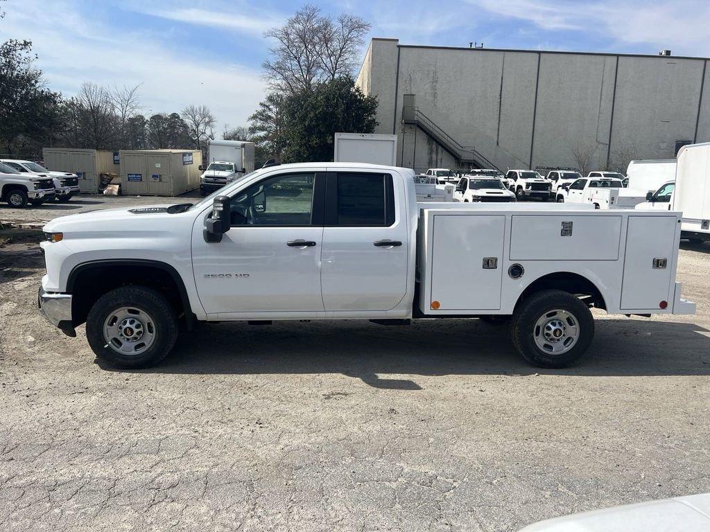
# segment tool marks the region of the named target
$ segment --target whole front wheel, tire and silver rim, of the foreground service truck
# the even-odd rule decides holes
[[[178,339],[178,318],[163,294],[120,287],[94,303],[87,340],[97,357],[116,367],[149,367],[163,360]]]

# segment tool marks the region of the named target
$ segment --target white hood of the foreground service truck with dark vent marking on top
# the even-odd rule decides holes
[[[119,209],[102,209],[60,216],[49,221],[42,229],[48,233],[65,233],[71,231],[151,231],[151,224],[170,218],[175,220],[178,212],[175,206],[180,205],[144,205]],[[180,209],[177,209],[178,211]]]

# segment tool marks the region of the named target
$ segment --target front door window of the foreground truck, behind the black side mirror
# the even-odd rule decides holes
[[[230,201],[232,226],[310,226],[315,174],[263,179]]]

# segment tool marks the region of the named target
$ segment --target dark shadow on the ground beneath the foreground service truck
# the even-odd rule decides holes
[[[202,324],[185,333],[168,359],[141,372],[178,374],[339,373],[383,389],[422,389],[413,376],[710,375],[710,338],[694,323],[618,318],[596,321],[596,337],[577,365],[528,365],[508,326],[479,321],[421,321],[383,327],[361,321]],[[106,368],[109,369],[109,368]]]

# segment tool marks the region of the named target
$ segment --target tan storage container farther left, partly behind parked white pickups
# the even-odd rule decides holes
[[[79,176],[81,192],[97,194],[99,175],[118,174],[119,165],[114,164],[114,153],[109,150],[84,150],[82,148],[43,148],[42,158],[48,170],[73,172]]]

